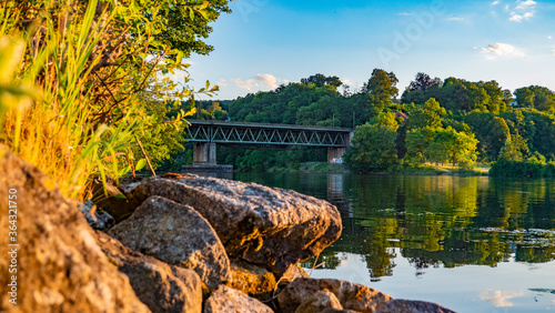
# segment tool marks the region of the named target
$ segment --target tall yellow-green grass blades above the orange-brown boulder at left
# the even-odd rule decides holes
[[[18,104],[8,109],[0,141],[46,172],[65,196],[82,199],[92,173],[117,175],[121,165],[102,160],[109,155],[117,160],[117,152],[130,145],[138,121],[131,107],[118,123],[93,122],[99,108],[88,89],[92,70],[100,62],[93,50],[108,31],[101,24],[108,22],[98,23],[98,0],[91,0],[84,12],[75,11],[72,1],[65,6],[56,2],[49,4],[56,8],[44,10],[56,9],[56,18],[44,13],[23,32],[13,23],[16,19],[3,19],[0,38],[21,46],[16,39],[19,36],[27,43],[22,55],[7,55],[17,64],[10,85],[33,90],[33,94],[27,108]],[[16,12],[10,6],[2,4],[1,17]],[[100,17],[109,21],[112,13],[103,11]],[[6,108],[10,103],[6,97],[16,93],[3,91],[0,105]],[[19,95],[17,101],[23,101],[21,97],[29,93]]]

